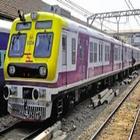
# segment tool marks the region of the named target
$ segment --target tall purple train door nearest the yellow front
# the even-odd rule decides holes
[[[79,33],[78,37],[78,71],[80,75],[80,80],[87,78],[87,64],[88,64],[88,46],[89,37],[85,34]]]

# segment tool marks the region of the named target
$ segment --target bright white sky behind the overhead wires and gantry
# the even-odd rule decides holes
[[[78,14],[71,8],[67,8],[66,5],[61,2],[71,1],[80,5],[84,9],[88,10],[90,13],[101,13],[101,12],[111,12],[111,11],[121,11],[121,10],[129,10],[131,9],[139,9],[140,1],[139,0],[42,0],[50,5],[59,5],[64,9],[71,11],[71,14],[75,17],[78,17],[84,21],[86,21],[85,16]],[[59,2],[58,2],[59,1]],[[117,24],[115,18],[106,19],[107,22],[104,21],[103,30],[108,32],[117,32]],[[136,21],[137,20],[137,21]],[[112,23],[113,22],[113,23]],[[97,28],[101,28],[100,21],[96,20],[93,23],[93,26]],[[133,17],[123,17],[120,19],[119,30],[140,30],[140,16]]]

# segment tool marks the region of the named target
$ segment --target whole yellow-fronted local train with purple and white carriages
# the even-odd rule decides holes
[[[97,82],[111,83],[140,64],[140,49],[55,13],[33,12],[12,25],[4,75],[11,115],[60,117]],[[106,84],[105,84],[106,83]]]

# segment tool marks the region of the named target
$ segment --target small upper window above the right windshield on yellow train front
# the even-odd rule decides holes
[[[52,21],[37,21],[35,27],[36,29],[49,29],[52,27]]]

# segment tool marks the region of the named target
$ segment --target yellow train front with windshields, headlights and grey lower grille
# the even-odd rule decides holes
[[[4,98],[11,115],[29,121],[50,117],[57,81],[61,17],[45,12],[21,15],[12,25],[4,73]]]

